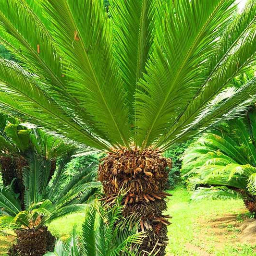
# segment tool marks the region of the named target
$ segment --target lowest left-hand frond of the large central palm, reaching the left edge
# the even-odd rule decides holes
[[[37,87],[34,77],[25,73],[16,63],[0,60],[0,74],[2,110],[11,109],[14,113],[22,115],[25,120],[44,126],[45,129],[51,130],[55,127],[56,133],[76,141],[80,140],[80,143],[100,149],[106,148],[98,139],[89,135],[85,127],[74,122],[71,116],[65,114],[53,100],[50,100],[45,92]]]

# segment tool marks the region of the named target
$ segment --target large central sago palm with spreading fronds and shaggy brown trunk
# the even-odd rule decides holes
[[[125,214],[144,215],[142,249],[164,255],[161,153],[255,98],[256,5],[234,0],[0,0],[0,106],[25,121],[109,153],[107,201],[128,190]],[[220,96],[219,96],[219,93]]]

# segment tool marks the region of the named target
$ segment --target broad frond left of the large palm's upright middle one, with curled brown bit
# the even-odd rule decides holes
[[[129,147],[128,111],[103,5],[98,0],[48,0],[44,5],[67,66],[68,91],[93,116],[102,134],[113,144]]]

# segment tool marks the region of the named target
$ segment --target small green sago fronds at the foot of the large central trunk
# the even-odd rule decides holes
[[[66,243],[57,241],[54,252],[45,256],[134,256],[132,247],[142,243],[143,232],[137,232],[138,219],[122,217],[122,207],[102,207],[96,203],[86,211],[81,234],[75,228]]]

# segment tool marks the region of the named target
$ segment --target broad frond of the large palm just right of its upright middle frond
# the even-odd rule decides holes
[[[207,73],[205,60],[214,54],[216,38],[231,18],[233,2],[158,1],[156,46],[136,93],[138,139],[144,141],[143,148],[163,134],[178,117],[177,110],[193,98]]]

